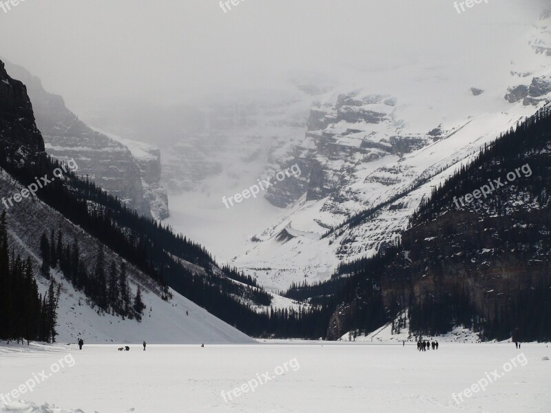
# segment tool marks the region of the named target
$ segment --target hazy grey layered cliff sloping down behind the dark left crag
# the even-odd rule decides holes
[[[87,127],[65,107],[61,96],[46,92],[40,79],[23,67],[6,65],[28,88],[48,154],[60,160],[74,158],[79,174],[94,180],[139,213],[151,216],[144,198],[141,170],[129,149]]]

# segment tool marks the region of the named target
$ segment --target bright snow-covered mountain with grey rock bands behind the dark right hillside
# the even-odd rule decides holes
[[[435,185],[550,99],[550,25],[544,12],[512,45],[508,67],[480,72],[476,83],[452,76],[454,68],[444,64],[417,65],[384,73],[419,72],[407,87],[326,94],[311,109],[306,138],[283,164],[300,165],[307,177],[302,191],[231,264],[280,290],[326,279],[340,262],[396,240]],[[277,204],[289,193],[283,182],[269,189],[267,200]],[[361,224],[340,227],[360,213]]]

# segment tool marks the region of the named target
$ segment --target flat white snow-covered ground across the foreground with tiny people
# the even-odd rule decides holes
[[[67,362],[19,397],[28,407],[8,403],[0,411],[549,412],[551,361],[544,360],[549,356],[548,345],[537,343],[524,343],[521,350],[512,343],[441,343],[429,352],[418,352],[415,343],[375,342],[147,346],[146,352],[139,344],[118,352],[111,345],[79,351],[76,346],[3,343],[1,394],[42,370],[48,376],[59,359]],[[517,367],[509,368],[512,359]],[[257,377],[267,380],[264,373],[275,379],[254,392],[233,395],[234,388]],[[459,403],[452,399],[488,376],[492,383],[485,391],[470,397],[462,393],[463,402],[456,397]],[[63,410],[52,410],[53,404]]]

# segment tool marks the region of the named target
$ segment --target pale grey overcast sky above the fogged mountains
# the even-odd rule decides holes
[[[225,13],[218,0],[25,0],[0,10],[0,56],[72,108],[185,100],[293,71],[338,78],[499,54],[545,3],[488,0],[458,14],[451,0],[243,0]]]

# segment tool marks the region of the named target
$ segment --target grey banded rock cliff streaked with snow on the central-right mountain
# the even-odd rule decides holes
[[[313,107],[306,139],[295,147],[289,162],[300,165],[302,178],[269,188],[267,200],[287,207],[306,193],[306,200],[335,195],[330,201],[333,205],[346,202],[354,198],[353,193],[337,193],[357,179],[355,171],[360,167],[388,155],[404,156],[435,140],[429,131],[418,136],[397,134],[395,105],[396,99],[391,96],[340,94],[334,105]],[[380,176],[383,184],[398,180],[397,176]]]

